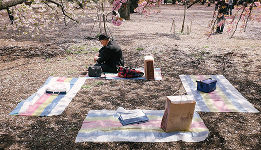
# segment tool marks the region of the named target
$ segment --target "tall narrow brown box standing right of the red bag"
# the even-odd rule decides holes
[[[147,80],[154,80],[154,58],[152,55],[146,55],[144,57],[144,73]]]

